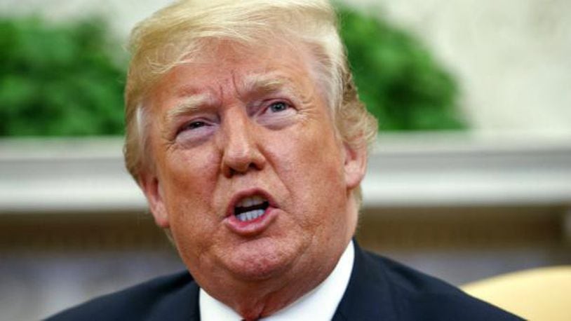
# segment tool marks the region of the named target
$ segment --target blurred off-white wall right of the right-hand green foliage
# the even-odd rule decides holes
[[[571,132],[571,1],[353,2],[425,41],[459,79],[476,129]]]

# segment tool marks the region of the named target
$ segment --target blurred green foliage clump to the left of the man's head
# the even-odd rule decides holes
[[[0,135],[123,132],[125,71],[102,20],[0,18]]]

